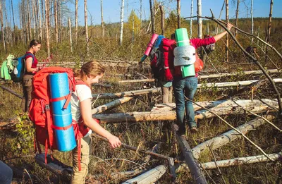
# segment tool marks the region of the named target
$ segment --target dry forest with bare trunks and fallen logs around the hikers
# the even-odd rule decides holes
[[[181,15],[180,0],[135,0],[135,9],[127,9],[128,0],[114,0],[120,1],[116,23],[103,20],[103,0],[99,7],[90,1],[0,0],[0,66],[10,55],[23,56],[37,39],[39,67],[75,69],[93,60],[106,67],[91,86],[92,117],[122,146],[111,149],[92,133],[86,183],[282,183],[282,18],[272,17],[276,1],[265,0],[269,17],[262,18],[253,17],[252,6],[260,3],[253,0],[222,0],[214,5],[221,7],[219,17],[213,7],[202,13],[202,0],[185,7],[189,17]],[[101,13],[99,24],[90,8]],[[176,133],[175,97],[162,104],[149,57],[140,63],[153,34],[170,39],[178,28],[186,28],[189,38],[228,31],[211,53],[197,49],[204,60],[192,100],[198,131],[185,136]],[[247,47],[256,47],[259,57]],[[45,163],[45,147],[35,150],[35,125],[20,109],[22,99],[20,82],[0,79],[0,160],[12,168],[12,183],[70,183],[72,152],[48,150]]]

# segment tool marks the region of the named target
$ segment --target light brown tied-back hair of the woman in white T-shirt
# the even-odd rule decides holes
[[[86,77],[96,77],[105,73],[105,68],[98,61],[89,61],[81,66],[80,69],[73,70],[74,76],[81,80],[86,80]]]

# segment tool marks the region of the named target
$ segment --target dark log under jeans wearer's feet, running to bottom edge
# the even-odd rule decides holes
[[[176,140],[180,145],[182,154],[185,158],[185,162],[190,170],[192,178],[195,180],[195,183],[207,183],[207,180],[206,178],[204,178],[204,174],[202,173],[199,164],[197,164],[197,161],[193,157],[190,145],[185,140],[185,137],[180,136],[178,135],[178,133],[176,133]]]

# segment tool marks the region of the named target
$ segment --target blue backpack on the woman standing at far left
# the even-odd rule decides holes
[[[35,61],[35,56],[31,53],[20,56],[13,60],[13,71],[11,74],[11,79],[13,82],[21,82],[23,80],[23,75],[25,74],[25,57],[32,56],[32,63]]]

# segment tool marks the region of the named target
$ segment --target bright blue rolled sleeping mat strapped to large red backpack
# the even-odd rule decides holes
[[[49,85],[51,99],[64,97],[70,94],[68,75],[66,73],[49,74]],[[59,128],[68,128],[66,130],[54,129],[58,150],[61,152],[68,152],[76,147],[75,133],[73,126],[71,125],[71,103],[68,104],[66,109],[63,109],[65,102],[66,99],[61,99],[57,102],[51,102],[54,125]]]

